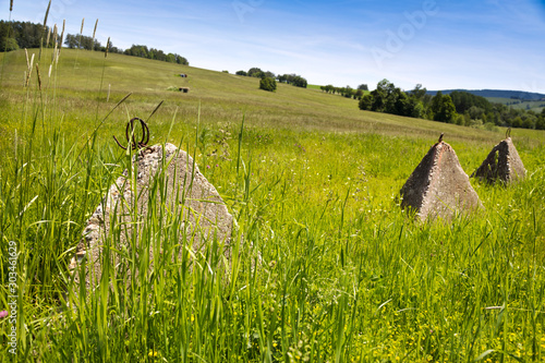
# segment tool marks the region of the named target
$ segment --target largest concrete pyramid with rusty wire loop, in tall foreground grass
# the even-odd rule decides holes
[[[84,238],[77,245],[70,265],[75,286],[82,280],[85,280],[87,289],[93,290],[98,286],[102,274],[101,258],[107,249],[105,245],[109,246],[111,266],[118,266],[131,249],[142,251],[138,245],[134,246],[134,241],[148,243],[152,269],[154,253],[157,253],[154,245],[157,244],[154,241],[142,241],[143,228],[149,226],[146,225],[146,218],[152,218],[152,214],[155,220],[162,216],[164,219],[170,218],[171,226],[177,226],[174,232],[172,227],[170,228],[170,233],[178,235],[178,241],[172,241],[170,235],[162,238],[164,242],[168,241],[170,249],[178,253],[178,258],[183,253],[183,245],[189,246],[194,255],[204,252],[207,244],[217,241],[223,247],[225,259],[229,261],[233,218],[214,185],[201,173],[191,156],[172,144],[166,144],[165,150],[161,145],[154,145],[137,153],[132,168],[132,172],[137,174],[130,178],[125,170],[110,186],[101,204],[87,221]],[[164,178],[159,178],[162,172]],[[162,182],[157,182],[158,180]],[[157,194],[155,198],[154,193]],[[155,205],[149,201],[154,201]],[[164,220],[161,226],[166,225]],[[160,233],[161,231],[147,231],[146,235]],[[159,253],[162,253],[164,247],[168,249],[161,245]],[[144,257],[137,255],[138,259]],[[85,271],[85,277],[80,276],[82,270]],[[135,275],[137,273],[135,271]]]

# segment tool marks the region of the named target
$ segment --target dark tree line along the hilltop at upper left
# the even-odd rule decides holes
[[[48,39],[49,43],[47,41]],[[0,21],[0,51],[39,48],[40,46],[55,47],[52,44],[53,39],[61,41],[58,34],[55,36],[49,27],[46,27],[44,31],[44,25],[41,24]],[[147,46],[142,45],[133,45],[131,48],[123,50],[114,47],[111,43],[102,46],[97,39],[82,34],[66,34],[64,36],[64,45],[71,49],[97,51],[106,51],[106,47],[108,46],[108,51],[113,53],[156,59],[184,65],[190,64],[187,59],[177,53],[165,53],[160,49],[147,48]]]

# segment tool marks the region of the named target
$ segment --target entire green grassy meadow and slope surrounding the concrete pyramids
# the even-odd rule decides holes
[[[505,130],[360,111],[315,89],[269,93],[257,78],[121,55],[62,49],[49,76],[45,50],[40,88],[35,68],[23,86],[24,51],[0,62],[0,310],[10,241],[19,252],[17,354],[0,319],[2,361],[545,360],[545,132],[511,133],[524,181],[472,180],[484,210],[422,223],[398,194],[438,135],[471,173]],[[169,90],[179,87],[190,92]],[[239,258],[223,270],[210,243],[153,274],[140,264],[130,289],[110,268],[66,308],[86,220],[131,160],[112,135],[160,101],[149,144],[195,156],[237,219]],[[169,245],[171,228],[150,218],[141,238]]]

